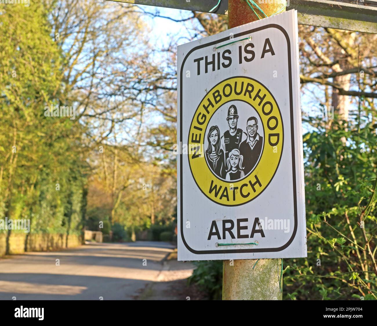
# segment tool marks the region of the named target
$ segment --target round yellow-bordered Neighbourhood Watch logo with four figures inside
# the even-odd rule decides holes
[[[202,99],[188,135],[189,166],[213,202],[250,202],[273,179],[283,151],[283,121],[267,87],[249,77],[221,81]]]

